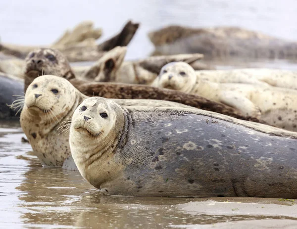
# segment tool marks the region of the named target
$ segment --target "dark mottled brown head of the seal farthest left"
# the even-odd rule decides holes
[[[67,58],[57,49],[40,48],[31,51],[25,58],[23,69],[25,88],[42,75],[55,75],[67,80],[75,78]]]

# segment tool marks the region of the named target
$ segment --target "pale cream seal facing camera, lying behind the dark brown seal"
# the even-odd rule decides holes
[[[165,65],[152,85],[198,94],[235,107],[243,114],[258,117],[270,125],[297,131],[296,90],[200,80],[194,69],[185,62]]]

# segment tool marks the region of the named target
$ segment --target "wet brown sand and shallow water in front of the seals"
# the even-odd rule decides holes
[[[21,137],[18,122],[0,125],[0,228],[297,227],[294,200],[102,195],[79,172],[42,167]]]

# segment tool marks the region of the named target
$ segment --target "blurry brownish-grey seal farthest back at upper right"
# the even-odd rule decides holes
[[[208,58],[296,59],[297,43],[238,27],[168,26],[148,33],[155,53],[202,53]]]

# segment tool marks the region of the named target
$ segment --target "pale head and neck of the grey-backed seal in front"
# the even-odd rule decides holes
[[[81,175],[95,187],[115,179],[122,167],[112,155],[125,144],[127,112],[112,100],[91,97],[72,116],[69,133],[72,157]]]

